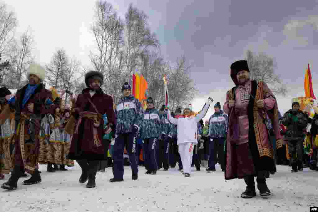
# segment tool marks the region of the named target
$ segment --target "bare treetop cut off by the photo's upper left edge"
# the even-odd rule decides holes
[[[7,11],[7,5],[0,3],[0,53],[5,54],[13,41],[14,30],[17,27],[17,17]]]

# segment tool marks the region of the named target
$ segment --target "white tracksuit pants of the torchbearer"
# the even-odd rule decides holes
[[[181,162],[183,166],[183,173],[191,174],[191,163],[193,156],[194,143],[186,142],[180,143],[179,146],[179,154],[181,157]]]

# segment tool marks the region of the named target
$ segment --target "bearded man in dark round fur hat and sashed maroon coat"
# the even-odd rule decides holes
[[[104,76],[98,71],[89,71],[85,76],[87,88],[79,94],[71,109],[77,124],[72,137],[68,159],[76,160],[82,169],[79,183],[85,183],[86,188],[96,186],[96,173],[101,160],[107,160],[102,139],[115,129],[116,119],[113,109],[113,98],[100,88]],[[104,129],[102,114],[107,115],[108,126]]]

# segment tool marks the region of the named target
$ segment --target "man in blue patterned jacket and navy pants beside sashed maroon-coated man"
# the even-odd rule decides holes
[[[110,182],[120,182],[124,180],[124,148],[126,146],[131,162],[133,180],[138,178],[138,156],[136,137],[139,127],[143,120],[143,109],[138,99],[131,95],[131,87],[124,83],[121,87],[123,96],[119,100],[115,113],[117,117],[117,126],[114,144],[114,165],[113,174]]]

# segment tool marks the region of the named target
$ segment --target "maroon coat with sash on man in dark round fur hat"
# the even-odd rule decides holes
[[[108,123],[112,123],[115,126],[113,98],[105,94],[101,89],[91,96],[89,90],[89,88],[83,89],[82,94],[79,94],[71,110],[72,115],[77,119],[77,123],[75,124],[70,152],[67,156],[68,159],[106,159],[105,151],[107,151],[108,147],[105,147],[104,143],[101,142],[105,135],[103,119],[99,119],[98,123],[96,123],[93,117],[86,116],[96,114],[93,105],[88,101],[88,99],[91,99],[98,112],[101,115],[106,113]],[[94,135],[94,131],[97,135]]]

